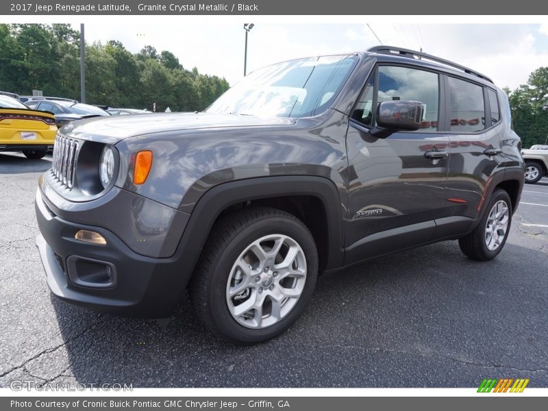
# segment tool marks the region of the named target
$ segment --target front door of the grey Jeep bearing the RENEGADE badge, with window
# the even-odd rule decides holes
[[[428,242],[434,219],[450,214],[449,137],[438,131],[445,104],[441,78],[414,66],[381,64],[367,81],[347,132],[347,264]],[[372,136],[377,105],[386,100],[421,101],[421,129]]]

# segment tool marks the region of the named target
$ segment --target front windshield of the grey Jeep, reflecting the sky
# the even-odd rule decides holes
[[[353,55],[331,55],[273,64],[244,77],[206,112],[315,116],[331,105],[357,62]]]

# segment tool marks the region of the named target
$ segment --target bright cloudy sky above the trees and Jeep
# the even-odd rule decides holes
[[[196,18],[171,22],[175,23],[151,16],[104,24],[95,18],[85,23],[86,41],[120,40],[132,53],[152,45],[158,52],[174,53],[186,69],[197,67],[200,73],[225,77],[229,84],[242,77],[245,21]],[[527,82],[534,69],[548,66],[548,24],[408,24],[385,20],[368,27],[360,23],[253,23],[248,37],[248,73],[291,58],[366,50],[380,42],[422,48],[511,89]],[[79,24],[73,27],[79,29]]]

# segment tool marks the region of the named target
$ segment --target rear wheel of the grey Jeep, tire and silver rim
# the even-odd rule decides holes
[[[499,212],[503,214],[497,216]],[[494,221],[496,231],[489,232]],[[460,250],[473,260],[488,261],[495,258],[506,244],[511,223],[512,201],[506,191],[497,189],[493,192],[484,216],[474,231],[459,238]]]

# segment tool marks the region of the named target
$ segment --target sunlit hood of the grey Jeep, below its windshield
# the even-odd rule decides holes
[[[262,118],[238,114],[162,113],[134,116],[95,117],[75,121],[60,132],[73,138],[116,144],[129,137],[160,132],[178,132],[191,129],[292,125],[296,119],[282,117]]]

